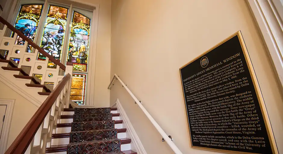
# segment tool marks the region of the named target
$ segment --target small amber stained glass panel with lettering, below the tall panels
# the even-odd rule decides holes
[[[79,105],[85,104],[86,74],[73,73],[70,99]]]

